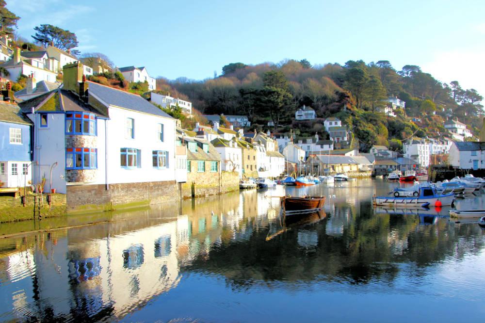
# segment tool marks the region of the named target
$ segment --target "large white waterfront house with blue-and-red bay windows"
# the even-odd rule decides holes
[[[82,74],[81,63],[65,65],[62,89],[20,103],[34,123],[33,179],[57,162],[52,187],[67,194],[68,208],[176,195],[176,120],[138,95],[81,81]]]

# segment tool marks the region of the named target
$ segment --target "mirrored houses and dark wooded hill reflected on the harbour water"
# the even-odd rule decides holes
[[[412,294],[414,278],[422,284],[428,270],[481,254],[480,227],[450,222],[447,209],[374,209],[372,195],[392,185],[358,180],[288,188],[295,196],[327,197],[323,212],[296,219],[280,217],[279,199],[271,197],[285,194],[278,186],[185,201],[182,215],[178,207],[154,207],[115,213],[96,226],[4,239],[0,319],[112,321],[134,309],[140,319],[152,318],[147,302],[166,295],[170,303],[177,293],[169,291],[190,294],[204,286],[190,275],[224,278],[235,298],[255,289],[311,297],[315,284],[348,293],[355,286],[379,293],[397,284]],[[469,203],[482,205],[484,197]],[[213,299],[226,297],[212,292]],[[467,293],[458,291],[458,298]],[[176,315],[157,304],[163,317]]]

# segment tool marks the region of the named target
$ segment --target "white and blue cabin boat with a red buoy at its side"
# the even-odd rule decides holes
[[[454,203],[454,194],[438,194],[434,187],[420,187],[418,196],[395,197],[373,196],[376,206],[420,208],[430,206],[451,206]],[[439,201],[439,203],[438,203]]]

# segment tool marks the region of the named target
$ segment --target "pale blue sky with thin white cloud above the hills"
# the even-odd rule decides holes
[[[485,95],[485,1],[7,0],[18,34],[50,23],[82,52],[153,77],[202,80],[222,66],[306,58],[311,64],[388,60],[419,65]]]

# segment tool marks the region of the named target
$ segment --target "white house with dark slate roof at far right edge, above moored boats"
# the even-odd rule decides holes
[[[461,169],[485,168],[485,143],[476,141],[453,142],[450,147],[450,165]]]

